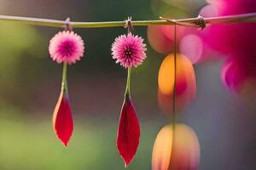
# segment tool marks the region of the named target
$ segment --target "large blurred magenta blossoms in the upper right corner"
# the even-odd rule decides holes
[[[253,13],[256,11],[256,1],[225,0],[212,3],[213,7],[218,8],[218,15]],[[255,29],[255,23],[212,25],[201,34],[211,48],[228,56],[221,77],[234,92],[241,92],[243,87],[256,80]]]

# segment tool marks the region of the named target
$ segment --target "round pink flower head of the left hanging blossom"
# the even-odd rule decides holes
[[[59,31],[49,41],[50,57],[57,63],[76,63],[84,54],[84,41],[74,31]]]

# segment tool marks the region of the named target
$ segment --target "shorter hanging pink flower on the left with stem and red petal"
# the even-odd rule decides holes
[[[61,94],[55,106],[52,122],[56,136],[65,146],[73,133],[73,117],[67,94],[67,64],[76,63],[84,54],[82,38],[71,31],[69,19],[66,21],[66,30],[60,31],[49,41],[50,57],[57,63],[63,63]]]

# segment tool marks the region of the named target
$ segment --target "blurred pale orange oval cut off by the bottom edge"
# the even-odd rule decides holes
[[[174,139],[172,124],[158,133],[152,153],[152,170],[197,169],[200,145],[194,130],[181,123],[175,126]]]

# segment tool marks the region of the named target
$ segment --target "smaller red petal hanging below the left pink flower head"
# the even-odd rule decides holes
[[[73,118],[70,110],[67,94],[61,95],[55,106],[53,114],[53,127],[55,128],[55,134],[61,142],[67,146],[68,140],[73,133]]]

